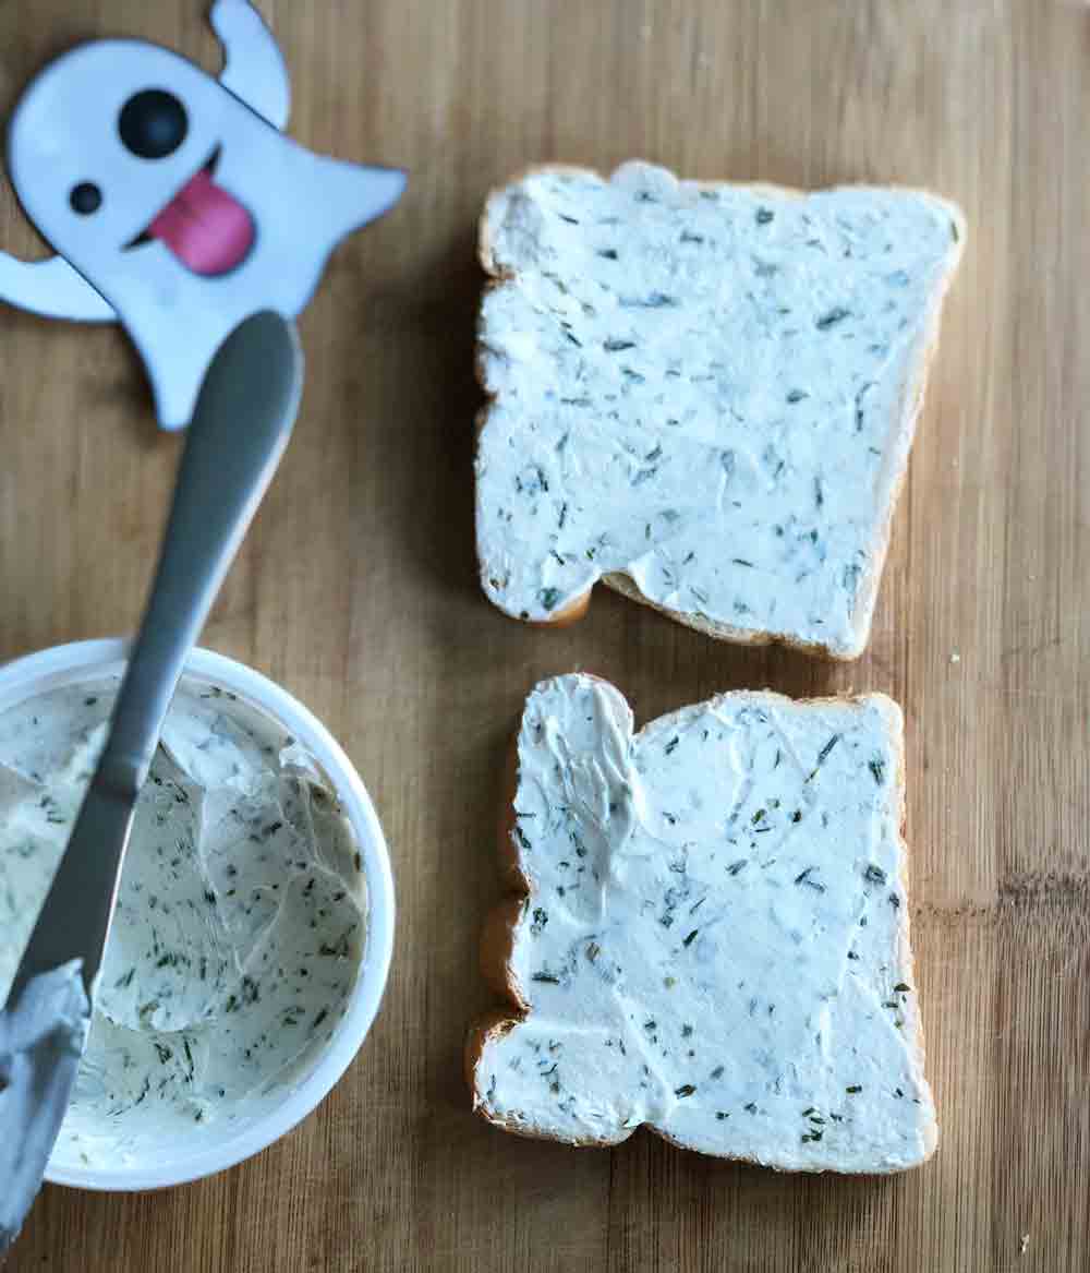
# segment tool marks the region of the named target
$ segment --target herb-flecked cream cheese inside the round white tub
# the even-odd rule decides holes
[[[0,693],[0,999],[117,686],[117,673],[89,675],[10,704]],[[369,845],[322,761],[282,719],[225,679],[182,681],[136,808],[88,1045],[51,1160],[61,1176],[146,1164],[164,1146],[200,1156],[253,1132],[294,1100],[350,1009],[359,1015]],[[388,961],[385,936],[382,945]],[[181,1178],[193,1174],[205,1172]]]

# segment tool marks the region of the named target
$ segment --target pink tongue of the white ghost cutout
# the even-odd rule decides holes
[[[253,243],[253,219],[242,204],[205,171],[170,200],[148,227],[195,274],[225,274]]]

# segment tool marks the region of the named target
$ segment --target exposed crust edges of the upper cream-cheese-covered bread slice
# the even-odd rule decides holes
[[[633,159],[630,160],[632,164],[646,164],[647,167],[656,167],[650,164],[647,160]],[[527,168],[518,172],[502,186],[496,186],[488,191],[488,196],[485,200],[485,209],[477,223],[477,257],[481,262],[481,267],[488,276],[486,289],[492,289],[501,286],[504,283],[510,281],[515,278],[514,272],[510,270],[504,270],[496,264],[495,250],[492,244],[492,238],[488,232],[488,205],[491,200],[501,195],[505,190],[511,186],[516,186],[525,181],[528,177],[533,177],[538,173],[571,173],[579,177],[594,177],[600,181],[612,179],[611,176],[594,169],[585,168],[579,164],[530,164]],[[678,178],[680,179],[680,178]],[[738,190],[749,190],[754,193],[767,193],[769,197],[778,199],[805,199],[808,193],[806,190],[800,190],[794,186],[780,186],[775,182],[759,182],[759,181],[693,181],[687,182],[696,186],[698,190],[712,190],[720,186],[729,185]],[[833,186],[831,190],[850,190],[851,186]],[[715,622],[710,619],[701,617],[696,614],[686,614],[678,610],[670,610],[668,606],[660,606],[654,601],[650,601],[636,583],[632,580],[631,575],[624,572],[611,572],[604,574],[600,583],[605,584],[607,588],[612,588],[614,592],[619,592],[622,596],[628,597],[640,605],[649,606],[651,610],[658,610],[659,614],[665,615],[668,619],[673,619],[674,622],[682,624],[686,628],[692,628],[694,631],[703,633],[706,636],[711,636],[714,640],[731,642],[739,645],[783,645],[787,649],[797,649],[804,654],[810,654],[817,658],[823,658],[837,663],[850,663],[857,659],[866,649],[870,642],[871,620],[874,615],[874,602],[878,593],[878,587],[881,580],[881,575],[885,569],[885,559],[889,554],[889,540],[893,530],[893,516],[897,509],[897,503],[900,496],[900,490],[904,485],[904,475],[908,468],[908,456],[912,448],[912,440],[916,432],[916,421],[923,406],[923,396],[927,384],[927,377],[931,370],[931,364],[935,358],[935,353],[939,345],[939,323],[942,313],[942,302],[945,299],[946,292],[953,283],[954,275],[958,269],[958,264],[962,258],[965,244],[965,218],[956,204],[945,199],[942,195],[937,195],[935,191],[927,190],[925,187],[917,186],[898,186],[898,187],[866,187],[874,190],[883,188],[897,188],[907,195],[926,195],[928,199],[934,199],[941,202],[949,211],[951,222],[958,227],[958,251],[954,255],[949,270],[942,276],[939,286],[936,288],[935,295],[932,297],[931,312],[928,316],[927,330],[916,353],[912,372],[906,382],[904,392],[902,395],[902,410],[900,418],[897,423],[897,432],[894,435],[894,444],[890,447],[890,453],[895,456],[895,468],[886,479],[886,495],[885,495],[885,517],[883,524],[878,531],[873,551],[871,563],[873,568],[864,579],[861,591],[861,605],[856,607],[857,614],[862,616],[861,620],[856,620],[855,625],[855,640],[851,647],[846,649],[833,649],[820,642],[805,642],[791,636],[787,633],[773,633],[768,630],[754,631],[752,629],[739,629],[731,624]],[[478,320],[478,332],[477,332],[477,358],[476,358],[476,374],[477,382],[485,391],[488,401],[477,412],[477,437],[479,439],[481,430],[487,423],[488,415],[495,405],[496,395],[488,392],[488,387],[485,377],[485,365],[482,358],[483,346],[483,330],[481,320]],[[547,620],[528,620],[521,619],[532,628],[566,628],[570,624],[577,622],[584,617],[586,611],[590,608],[590,598],[594,593],[594,587],[591,587],[583,597],[576,598],[563,610],[558,611],[555,616]]]

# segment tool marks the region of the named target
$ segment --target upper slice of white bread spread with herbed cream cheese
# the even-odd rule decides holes
[[[602,579],[711,636],[866,645],[962,213],[542,168],[481,222],[481,582],[530,622]]]

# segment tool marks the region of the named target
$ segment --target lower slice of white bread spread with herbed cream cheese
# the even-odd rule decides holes
[[[908,941],[902,719],[883,695],[734,693],[633,735],[544,681],[482,945],[474,1108],[509,1132],[781,1170],[922,1162],[937,1129]]]

